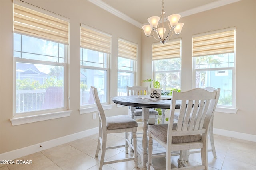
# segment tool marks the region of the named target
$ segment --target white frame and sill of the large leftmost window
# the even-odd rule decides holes
[[[56,18],[57,20],[63,20],[68,22],[69,25],[69,19],[65,18],[63,16],[60,16],[58,14],[52,13],[50,11],[46,11],[42,8],[30,5],[26,2],[20,2],[18,0],[14,0],[14,4],[17,4],[19,6],[22,6],[24,8],[29,8],[31,10],[36,11],[37,13],[42,13],[45,15],[49,15],[51,17]],[[14,12],[14,11],[13,11]],[[14,21],[13,21],[14,22]],[[44,121],[44,120],[50,120],[50,119],[56,119],[56,118],[61,118],[61,117],[68,117],[70,116],[72,110],[69,110],[68,108],[68,103],[69,103],[69,97],[68,97],[68,57],[69,57],[69,45],[68,41],[67,43],[63,43],[60,41],[54,41],[51,40],[50,38],[42,38],[38,37],[36,35],[30,35],[30,33],[22,33],[19,31],[13,31],[13,45],[14,45],[14,33],[19,34],[19,35],[26,35],[29,37],[35,37],[38,39],[43,39],[46,41],[51,41],[54,43],[59,43],[64,45],[64,61],[62,63],[57,63],[57,62],[51,62],[51,61],[42,61],[42,60],[35,60],[35,59],[26,59],[26,58],[21,58],[21,57],[12,57],[13,59],[13,95],[12,95],[12,102],[13,102],[13,117],[10,119],[12,125],[21,125],[21,124],[26,124],[26,123],[32,123],[32,122],[37,122],[37,121]],[[69,34],[69,30],[67,32]],[[22,41],[20,42],[22,45]],[[22,49],[21,53],[22,53]],[[14,49],[13,49],[13,54],[14,54]],[[62,108],[56,108],[56,109],[46,109],[46,110],[38,110],[38,111],[29,111],[29,112],[22,112],[22,113],[16,113],[16,63],[30,63],[30,64],[45,64],[45,65],[52,65],[52,66],[63,66],[63,71],[64,71],[64,76],[63,76],[63,92],[64,92],[64,107]]]

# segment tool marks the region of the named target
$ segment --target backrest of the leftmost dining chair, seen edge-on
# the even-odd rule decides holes
[[[90,91],[92,92],[92,96],[94,98],[97,110],[98,110],[98,115],[99,115],[99,121],[100,121],[100,127],[102,127],[102,129],[106,129],[104,127],[106,127],[106,116],[103,110],[103,107],[100,103],[100,98],[98,95],[98,90],[97,88],[94,88],[91,86]]]

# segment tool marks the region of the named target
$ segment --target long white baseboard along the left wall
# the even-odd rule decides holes
[[[74,133],[74,134],[67,135],[64,137],[52,139],[50,141],[45,141],[45,142],[31,145],[28,147],[12,150],[10,152],[5,152],[5,153],[0,154],[0,160],[14,160],[14,159],[20,158],[22,156],[40,152],[42,150],[56,147],[56,146],[64,144],[64,143],[68,143],[71,141],[75,141],[77,139],[81,139],[83,137],[94,135],[98,132],[99,132],[99,128],[96,127],[93,129],[88,129],[86,131],[82,131],[82,132]]]

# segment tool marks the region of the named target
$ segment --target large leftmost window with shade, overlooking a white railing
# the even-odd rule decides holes
[[[68,19],[26,7],[14,4],[14,117],[65,111]]]

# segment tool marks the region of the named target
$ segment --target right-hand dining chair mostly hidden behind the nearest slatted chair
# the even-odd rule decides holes
[[[213,87],[209,86],[209,87],[205,87],[203,89],[205,89],[205,90],[207,90],[209,92],[213,92],[214,90],[218,91],[218,96],[220,95],[220,88],[216,89],[216,88],[213,88]],[[218,99],[215,101],[214,111],[216,109],[217,103],[218,103]],[[179,114],[177,112],[175,112],[174,113],[174,120],[177,120],[178,116],[179,116]],[[210,128],[209,128],[209,137],[210,137],[211,149],[208,149],[208,151],[212,151],[213,157],[217,158],[217,154],[216,154],[216,150],[215,150],[215,145],[214,145],[213,119],[214,119],[214,117],[212,117],[212,120],[210,122]],[[188,156],[187,156],[187,160],[186,160],[187,162],[189,160],[189,155],[193,154],[193,153],[200,153],[200,151],[199,150],[196,150],[196,151],[189,151],[188,150]]]

